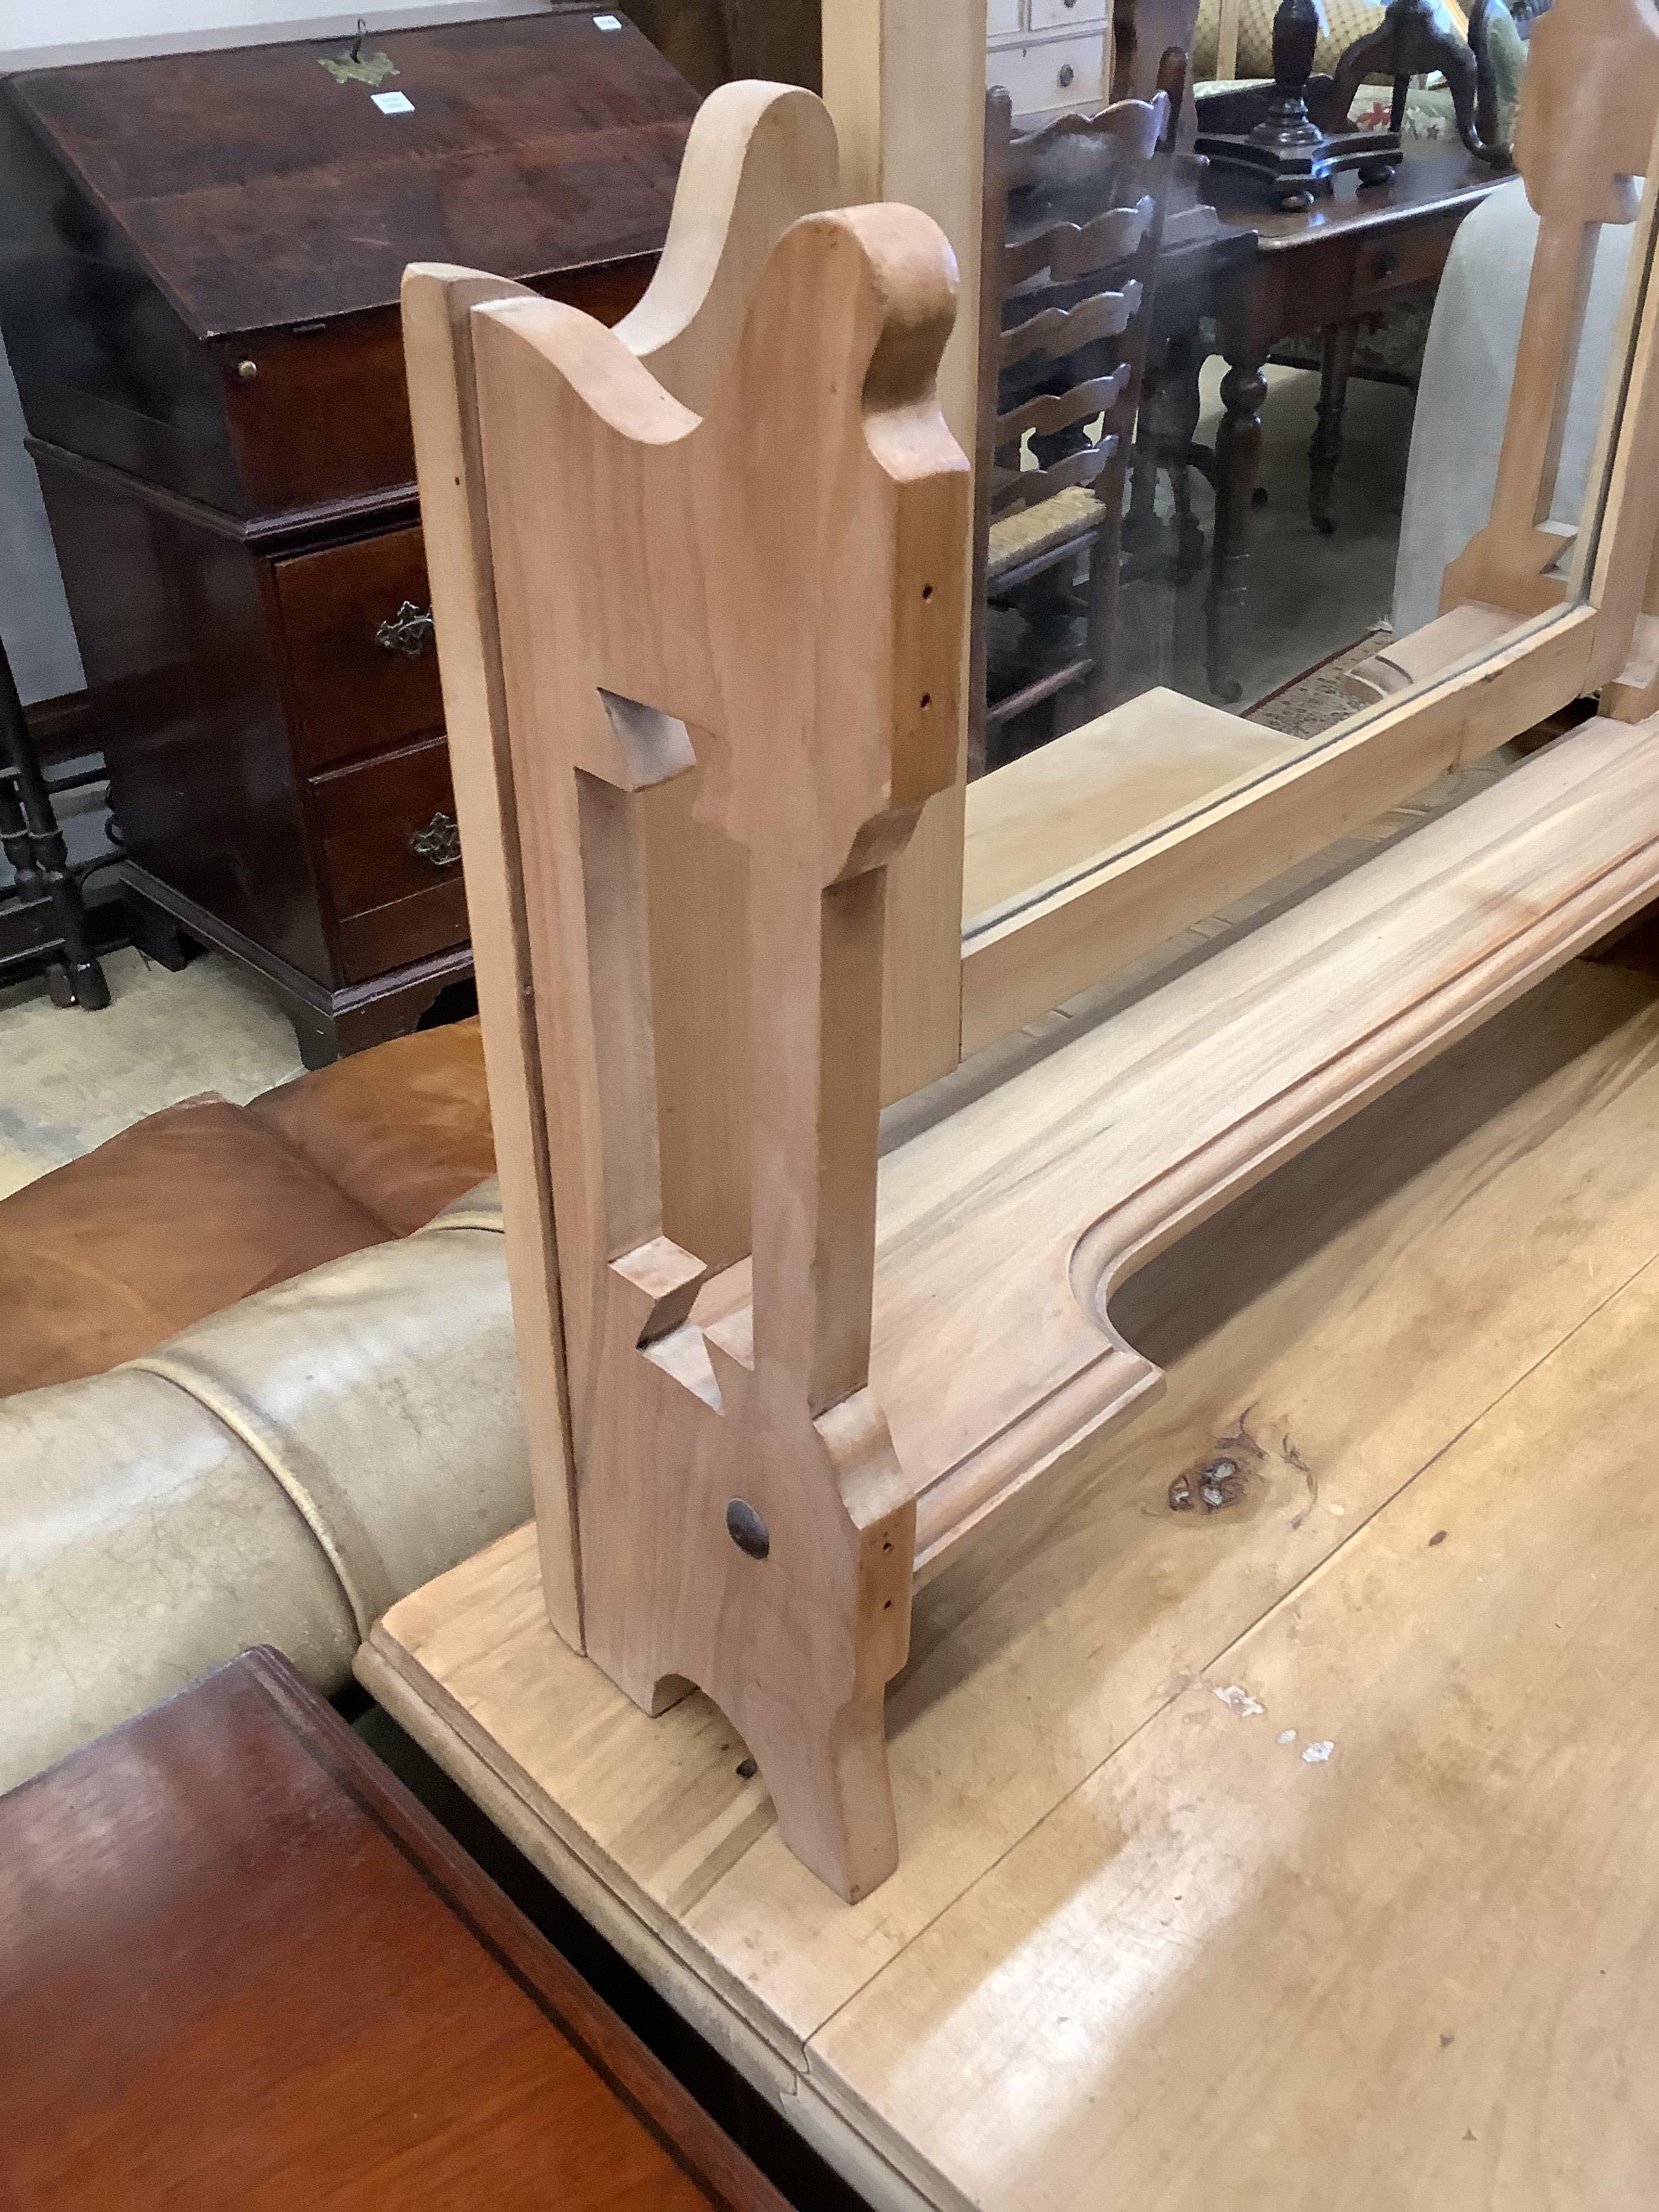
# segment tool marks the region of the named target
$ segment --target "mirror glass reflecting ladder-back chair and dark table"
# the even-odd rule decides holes
[[[1597,4],[991,7],[969,945],[1579,588]]]

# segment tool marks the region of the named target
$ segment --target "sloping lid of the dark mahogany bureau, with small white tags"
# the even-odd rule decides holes
[[[201,338],[387,307],[409,261],[538,279],[661,246],[697,93],[624,15],[369,31],[378,82],[321,66],[349,49],[42,69],[7,95]]]

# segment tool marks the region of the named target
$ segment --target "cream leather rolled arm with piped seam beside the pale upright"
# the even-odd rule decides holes
[[[394,1599],[529,1513],[493,1183],[0,1400],[0,1790],[250,1644],[338,1690]]]

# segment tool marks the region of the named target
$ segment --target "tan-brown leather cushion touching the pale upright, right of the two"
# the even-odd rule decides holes
[[[476,1020],[336,1060],[268,1091],[246,1113],[392,1237],[422,1228],[495,1172]]]

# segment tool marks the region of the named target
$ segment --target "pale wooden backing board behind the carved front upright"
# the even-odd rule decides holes
[[[697,407],[730,361],[754,283],[799,215],[836,201],[836,133],[823,102],[790,84],[726,84],[697,111],[664,259],[617,336],[686,405]],[[575,1462],[564,1391],[557,1237],[542,1108],[542,1040],[507,697],[495,566],[482,491],[471,310],[535,299],[478,270],[416,263],[403,281],[409,411],[420,473],[427,571],[449,730],[456,812],[467,852],[467,914],[484,1031],[489,1104],[507,1219],[507,1263],[520,1352],[542,1588],[560,1635],[582,1648]],[[708,914],[741,898],[723,854],[688,810],[657,825],[664,872]],[[739,907],[741,927],[741,907]],[[743,1248],[748,1212],[748,1064],[741,993],[681,960],[695,938],[664,933],[661,1004],[679,1024],[670,1048],[708,1051],[728,1071],[672,1137],[701,1164],[701,1214]]]

